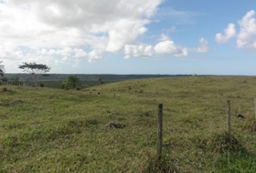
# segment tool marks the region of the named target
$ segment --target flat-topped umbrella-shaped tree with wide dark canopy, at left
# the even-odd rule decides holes
[[[19,65],[18,68],[23,69],[24,72],[30,73],[32,75],[35,86],[37,86],[39,76],[48,73],[50,70],[50,67],[48,65],[24,62],[22,63],[22,65]]]

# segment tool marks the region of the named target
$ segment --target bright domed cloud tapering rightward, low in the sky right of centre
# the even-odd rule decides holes
[[[187,48],[176,46],[174,41],[166,40],[154,47],[157,54],[171,54],[173,56],[187,56]]]

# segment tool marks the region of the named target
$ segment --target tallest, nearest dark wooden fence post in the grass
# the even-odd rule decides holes
[[[163,103],[158,105],[158,142],[157,142],[157,157],[162,157],[162,145],[163,145]]]

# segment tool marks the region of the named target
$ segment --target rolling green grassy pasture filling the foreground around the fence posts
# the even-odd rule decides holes
[[[0,172],[254,173],[255,95],[252,76],[149,78],[80,91],[0,86]]]

